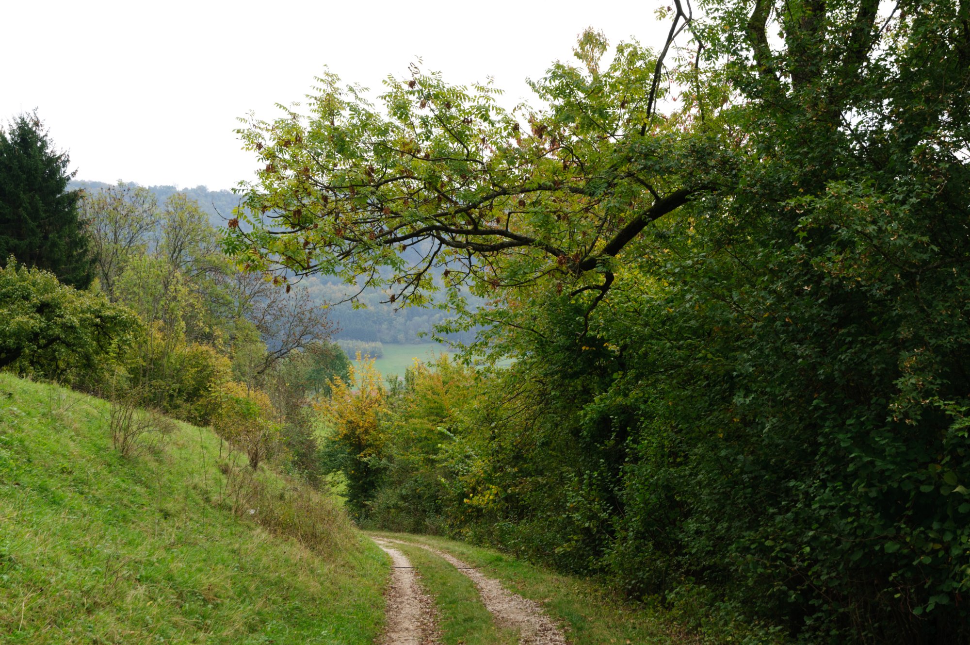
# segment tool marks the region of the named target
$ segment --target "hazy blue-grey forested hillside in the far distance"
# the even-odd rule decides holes
[[[83,188],[88,191],[111,187],[105,182],[72,181],[70,189]],[[204,186],[177,188],[174,186],[149,186],[159,203],[164,202],[176,192],[184,193],[197,201],[199,207],[209,215],[213,226],[221,227],[232,217],[233,209],[240,204],[240,197],[231,190],[210,190]],[[305,283],[314,299],[321,305],[338,303],[349,288],[336,279],[314,277]],[[434,326],[450,318],[448,312],[438,309],[409,308],[397,310],[391,303],[381,303],[387,297],[376,290],[367,290],[358,300],[367,305],[365,309],[354,309],[349,303],[334,304],[330,307],[330,319],[336,322],[338,331],[335,336],[346,340],[379,341],[382,343],[425,343],[432,342],[430,335]],[[427,334],[427,335],[422,335]],[[448,338],[470,341],[473,332],[451,334]]]

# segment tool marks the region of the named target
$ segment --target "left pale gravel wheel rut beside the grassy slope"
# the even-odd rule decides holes
[[[381,645],[436,645],[435,603],[418,586],[417,572],[403,553],[381,538],[372,538],[391,557],[391,588],[387,592],[387,628]]]

